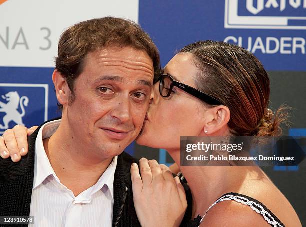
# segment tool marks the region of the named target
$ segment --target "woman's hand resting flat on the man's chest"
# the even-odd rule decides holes
[[[141,226],[179,226],[187,208],[184,187],[166,165],[140,159],[130,169],[134,205]]]

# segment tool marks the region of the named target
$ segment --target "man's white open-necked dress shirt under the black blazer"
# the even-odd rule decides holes
[[[117,156],[95,185],[75,197],[56,176],[42,142],[42,139],[56,131],[59,124],[60,120],[44,124],[36,138],[30,207],[30,216],[35,217],[35,223],[30,226],[112,226],[113,180]]]

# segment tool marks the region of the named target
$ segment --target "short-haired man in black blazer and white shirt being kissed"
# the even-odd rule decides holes
[[[130,179],[138,161],[122,151],[140,132],[158,72],[156,46],[131,21],[68,28],[52,75],[61,120],[29,136],[20,162],[0,158],[0,216],[35,216],[37,226],[140,226]]]

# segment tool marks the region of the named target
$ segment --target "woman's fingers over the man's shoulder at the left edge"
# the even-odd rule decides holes
[[[25,156],[28,151],[27,136],[31,135],[38,126],[26,128],[16,125],[13,129],[7,129],[0,137],[0,156],[2,158],[11,157],[13,162],[18,162],[21,156]]]

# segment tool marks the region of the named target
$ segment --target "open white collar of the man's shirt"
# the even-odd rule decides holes
[[[60,180],[57,177],[56,173],[54,172],[51,166],[51,163],[45,153],[44,146],[43,146],[43,139],[51,137],[55,133],[55,131],[59,127],[60,121],[61,120],[50,121],[42,125],[42,127],[38,131],[38,135],[35,141],[33,189],[35,189],[41,183],[43,183],[44,180],[50,175],[52,175],[56,179],[56,181],[60,183]],[[111,193],[112,198],[114,198],[113,182],[114,182],[115,170],[117,167],[117,159],[118,159],[118,156],[115,156],[112,159],[112,162],[109,164],[109,166],[105,170],[105,172],[101,175],[97,183],[83,192],[85,193],[89,192],[89,196],[90,196],[94,194],[95,192],[97,192],[98,190],[101,190],[102,187],[106,185]]]

